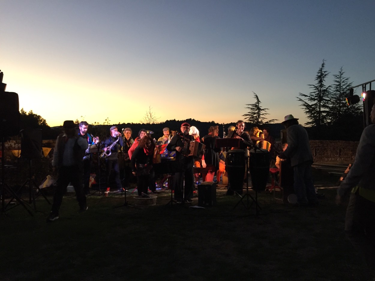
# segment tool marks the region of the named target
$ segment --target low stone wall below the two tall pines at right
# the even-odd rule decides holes
[[[349,141],[310,141],[312,156],[317,163],[353,163],[358,144]]]

